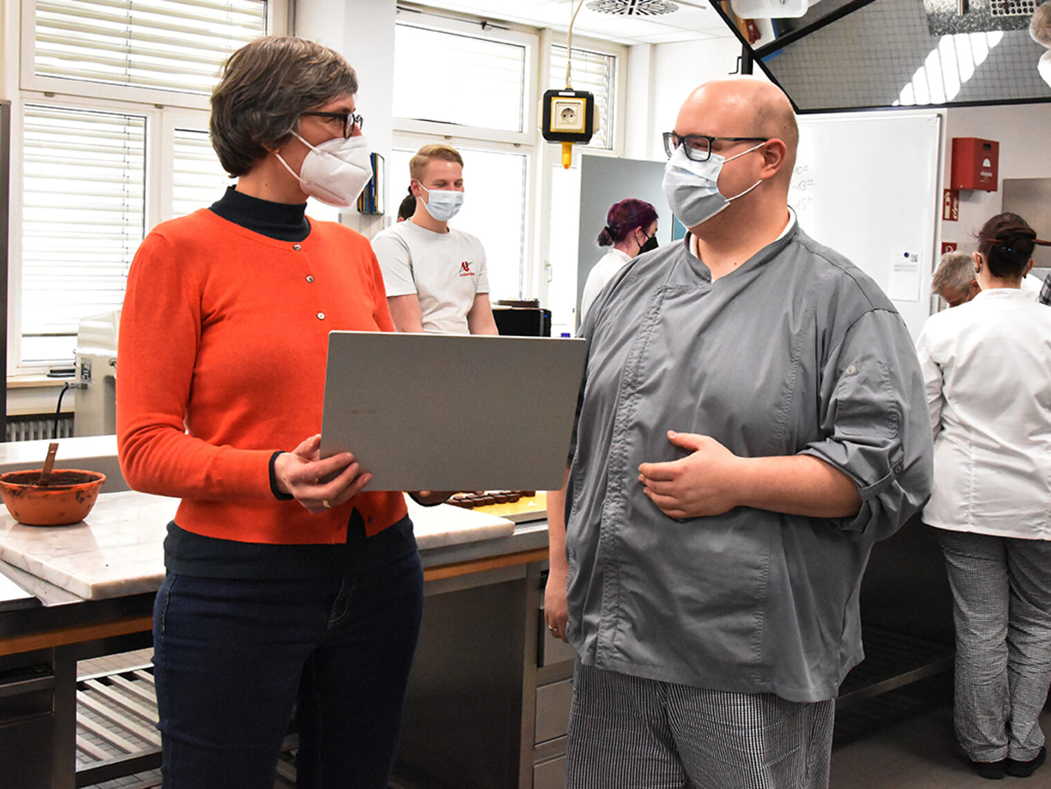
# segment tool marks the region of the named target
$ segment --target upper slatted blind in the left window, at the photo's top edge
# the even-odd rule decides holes
[[[266,32],[265,0],[37,0],[41,77],[209,94],[231,51]]]

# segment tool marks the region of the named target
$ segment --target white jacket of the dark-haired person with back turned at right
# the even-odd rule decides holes
[[[924,522],[1051,539],[1051,310],[984,290],[927,318],[916,351],[934,430]]]

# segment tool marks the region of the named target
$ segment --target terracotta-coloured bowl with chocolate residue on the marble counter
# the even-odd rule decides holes
[[[29,526],[64,526],[84,520],[99,498],[106,475],[63,469],[39,487],[40,469],[0,474],[0,495],[7,512]]]

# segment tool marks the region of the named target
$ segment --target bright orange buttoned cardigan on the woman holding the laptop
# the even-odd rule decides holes
[[[118,345],[121,470],[137,491],[181,498],[186,531],[341,543],[352,507],[369,536],[406,515],[397,492],[311,515],[270,490],[271,455],[321,432],[329,331],[394,330],[369,242],[310,225],[283,242],[202,209],[136,253]]]

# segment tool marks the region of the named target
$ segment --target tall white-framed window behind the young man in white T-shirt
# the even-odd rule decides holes
[[[535,33],[447,19],[395,28],[396,139],[387,215],[395,215],[406,195],[416,150],[431,143],[456,148],[463,157],[465,203],[452,224],[486,248],[494,304],[529,291],[538,47]]]

